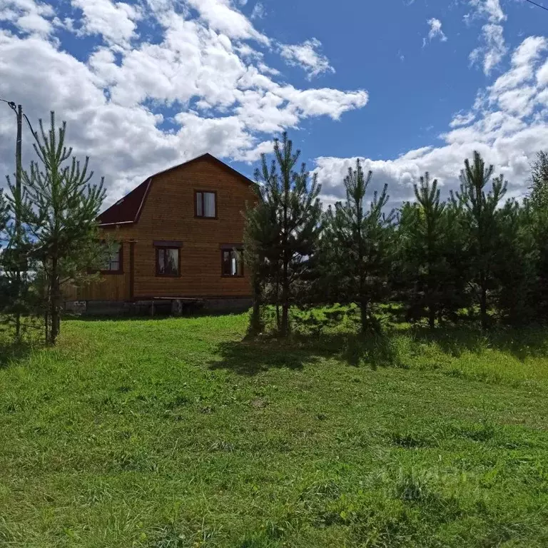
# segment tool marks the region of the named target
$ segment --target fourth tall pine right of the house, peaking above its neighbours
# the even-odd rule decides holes
[[[499,213],[497,206],[504,198],[507,184],[502,176],[492,180],[492,188],[485,193],[494,167],[485,167],[480,153],[474,152],[472,164],[465,160],[460,173],[460,192],[456,200],[465,208],[465,218],[470,235],[470,268],[472,282],[477,288],[482,328],[489,323],[487,297],[494,290],[494,258],[499,247]]]

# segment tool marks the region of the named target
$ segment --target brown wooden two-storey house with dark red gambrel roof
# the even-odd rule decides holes
[[[115,250],[101,280],[66,300],[88,311],[161,299],[247,306],[243,213],[253,184],[210,154],[148,177],[99,215]]]

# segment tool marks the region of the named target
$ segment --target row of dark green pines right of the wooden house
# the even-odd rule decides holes
[[[483,329],[548,319],[548,155],[532,164],[526,198],[507,198],[507,182],[475,152],[460,188],[442,199],[430,173],[415,200],[387,208],[374,173],[348,170],[345,199],[327,209],[320,185],[287,134],[255,173],[256,205],[246,211],[245,260],[253,286],[250,329],[273,305],[281,336],[290,308],[355,303],[364,333],[380,329],[375,310],[400,303],[407,320],[431,328],[464,319]]]

